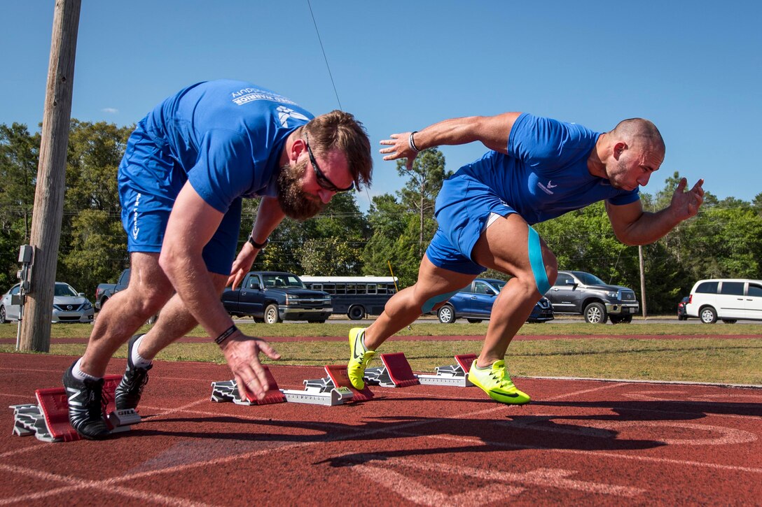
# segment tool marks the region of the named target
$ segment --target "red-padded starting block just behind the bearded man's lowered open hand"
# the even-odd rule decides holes
[[[267,367],[265,369],[267,370]],[[212,401],[232,401],[239,405],[263,405],[287,401],[331,407],[352,401],[370,400],[373,397],[373,393],[367,387],[362,391],[352,387],[347,378],[346,365],[328,365],[325,367],[325,372],[328,377],[308,379],[304,381],[304,390],[299,391],[298,389],[279,389],[277,382],[267,370],[267,381],[271,390],[267,391],[264,400],[241,400],[235,381],[212,382]]]

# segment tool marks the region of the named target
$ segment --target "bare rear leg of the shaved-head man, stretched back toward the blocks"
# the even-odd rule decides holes
[[[434,266],[424,255],[418,269],[418,281],[386,301],[383,313],[365,330],[365,346],[370,350],[376,350],[389,336],[420,317],[427,301],[463,289],[475,277]],[[438,301],[434,308],[440,307],[443,302]]]

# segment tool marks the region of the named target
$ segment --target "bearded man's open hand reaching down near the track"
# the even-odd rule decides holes
[[[241,399],[246,400],[247,393],[253,394],[258,400],[264,398],[270,385],[267,383],[264,366],[259,362],[259,352],[264,352],[270,359],[280,359],[280,354],[270,343],[261,338],[246,336],[240,331],[225,340],[221,348],[235,376]]]

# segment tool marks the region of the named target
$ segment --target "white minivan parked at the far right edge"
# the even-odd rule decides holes
[[[690,289],[685,313],[699,317],[704,324],[714,324],[717,319],[726,324],[738,319],[762,320],[762,280],[699,280]]]

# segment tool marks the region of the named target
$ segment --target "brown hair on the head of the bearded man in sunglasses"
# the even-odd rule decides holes
[[[309,145],[317,155],[338,149],[347,157],[354,185],[370,187],[373,180],[373,158],[370,139],[365,127],[354,116],[341,110],[332,110],[316,116],[303,129],[309,136]]]

